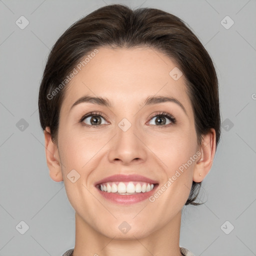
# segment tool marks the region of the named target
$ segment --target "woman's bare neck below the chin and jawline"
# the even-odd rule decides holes
[[[171,221],[147,236],[127,240],[107,237],[96,231],[75,213],[75,246],[73,256],[110,256],[122,255],[161,255],[181,256],[179,250],[181,211]],[[137,235],[138,236],[138,235]]]

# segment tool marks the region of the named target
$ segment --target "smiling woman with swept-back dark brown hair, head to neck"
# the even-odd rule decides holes
[[[75,210],[65,256],[193,255],[179,247],[220,135],[209,54],[178,17],[101,7],[49,54],[39,116],[50,177]]]

